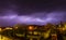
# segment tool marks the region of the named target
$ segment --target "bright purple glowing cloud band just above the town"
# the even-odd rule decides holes
[[[47,23],[57,23],[61,22],[64,18],[65,13],[59,12],[52,12],[50,14],[46,14],[43,17],[43,13],[41,14],[31,14],[31,15],[21,15],[18,14],[11,14],[11,15],[3,15],[0,16],[0,23],[12,25],[12,24],[35,24],[35,25],[44,25]],[[42,17],[42,18],[41,18]]]

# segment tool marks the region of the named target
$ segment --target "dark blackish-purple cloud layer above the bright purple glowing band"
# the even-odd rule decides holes
[[[65,0],[44,0],[44,1],[25,1],[25,0],[4,0],[0,1],[1,11],[13,10],[19,15],[31,14],[34,12],[53,12],[53,11],[66,11]]]

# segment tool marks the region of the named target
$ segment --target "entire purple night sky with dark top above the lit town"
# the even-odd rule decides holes
[[[0,0],[0,25],[66,22],[66,0]]]

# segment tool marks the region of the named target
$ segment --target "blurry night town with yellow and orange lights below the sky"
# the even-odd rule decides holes
[[[66,23],[0,27],[0,40],[66,40]]]

